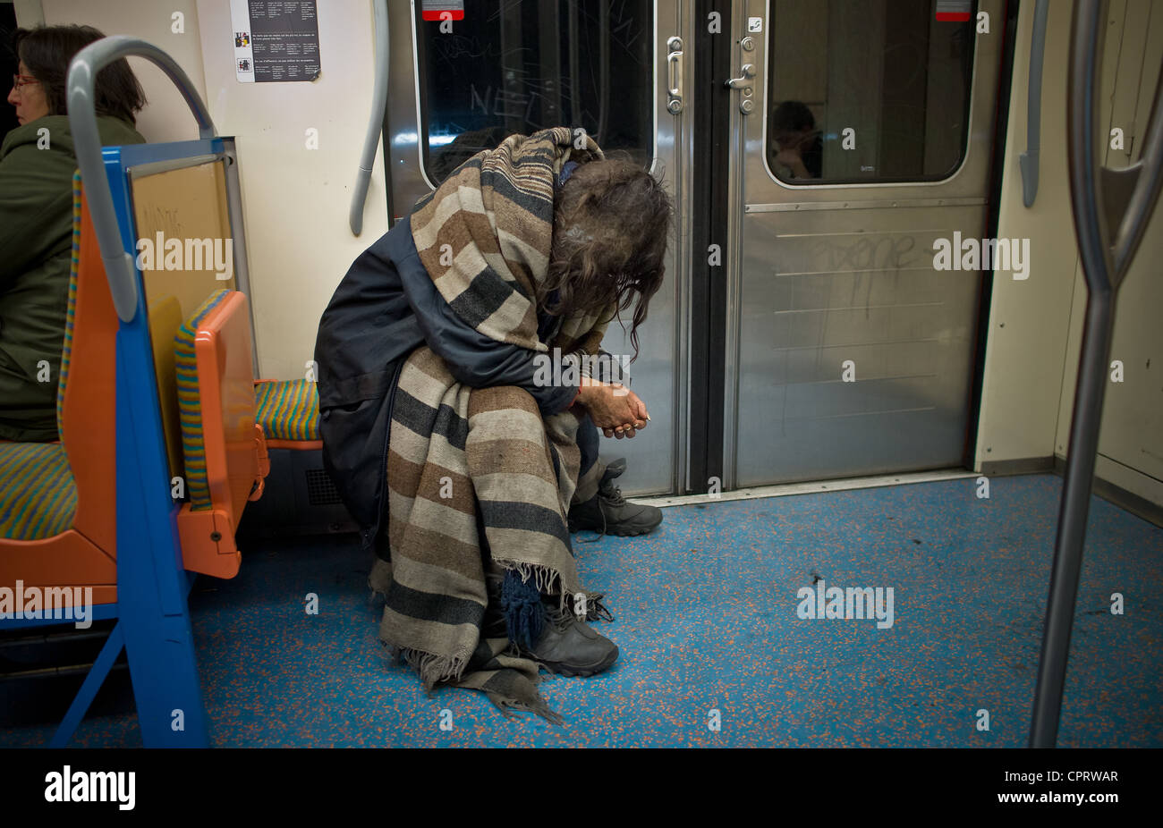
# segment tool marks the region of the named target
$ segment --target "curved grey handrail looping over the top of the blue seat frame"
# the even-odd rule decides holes
[[[121,244],[113,194],[109,192],[109,181],[105,177],[105,165],[101,162],[101,136],[97,129],[93,87],[98,72],[114,60],[130,56],[150,60],[170,77],[194,114],[200,137],[213,138],[216,134],[202,99],[198,97],[194,85],[190,83],[181,66],[152,43],[127,35],[104,37],[77,52],[69,65],[66,81],[69,126],[72,128],[77,150],[77,166],[80,167],[85,183],[88,213],[93,219],[93,229],[101,248],[105,276],[109,281],[109,293],[113,294],[113,307],[123,322],[133,320],[137,309],[137,279],[134,277],[134,257],[126,252]]]

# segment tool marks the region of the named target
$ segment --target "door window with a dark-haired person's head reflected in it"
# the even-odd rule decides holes
[[[966,20],[937,20],[937,0],[773,0],[771,171],[795,185],[951,176],[969,133],[976,17],[976,3],[952,5]]]

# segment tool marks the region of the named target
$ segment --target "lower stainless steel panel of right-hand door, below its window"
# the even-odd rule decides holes
[[[959,462],[980,274],[933,247],[982,215],[899,209],[745,216],[737,485]]]

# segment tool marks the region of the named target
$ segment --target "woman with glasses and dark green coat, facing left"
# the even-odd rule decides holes
[[[20,73],[8,102],[19,127],[0,147],[0,440],[57,438],[57,373],[72,257],[72,176],[65,109],[69,62],[104,37],[87,26],[17,29]],[[145,105],[126,60],[97,76],[97,126],[105,144],[137,144]]]

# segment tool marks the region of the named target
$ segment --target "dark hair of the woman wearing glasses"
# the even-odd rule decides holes
[[[69,114],[65,81],[69,63],[81,49],[105,35],[92,26],[41,26],[16,29],[12,48],[28,71],[41,81],[50,115]],[[145,93],[129,63],[121,58],[97,73],[94,109],[136,124],[136,114],[145,106]]]

